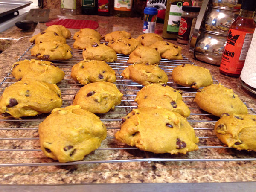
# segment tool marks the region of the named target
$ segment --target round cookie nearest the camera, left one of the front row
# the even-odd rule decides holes
[[[106,134],[99,117],[79,105],[52,110],[39,125],[41,150],[61,163],[83,160],[99,148]]]

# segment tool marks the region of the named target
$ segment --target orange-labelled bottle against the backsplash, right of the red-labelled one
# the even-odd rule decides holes
[[[132,0],[115,0],[114,15],[116,17],[131,17]]]

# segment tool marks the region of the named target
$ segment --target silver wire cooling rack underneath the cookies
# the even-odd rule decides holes
[[[67,44],[73,48],[73,40],[68,39]],[[32,59],[30,56],[31,45],[18,61]],[[102,141],[102,145],[96,151],[84,157],[83,161],[58,163],[55,160],[44,156],[39,145],[38,125],[50,113],[43,113],[34,117],[23,117],[22,119],[0,119],[0,166],[52,166],[52,165],[76,165],[88,163],[119,163],[119,162],[142,162],[142,161],[254,161],[256,153],[253,151],[238,151],[224,146],[214,134],[214,125],[218,117],[213,116],[203,110],[193,102],[196,90],[190,87],[182,87],[172,80],[172,70],[180,64],[193,64],[186,57],[184,60],[160,61],[159,67],[168,75],[168,85],[183,92],[183,101],[191,110],[188,122],[194,127],[196,135],[199,137],[199,150],[184,154],[154,154],[140,151],[138,148],[130,147],[115,140],[114,134],[120,129],[121,119],[137,108],[134,102],[137,92],[143,87],[131,80],[123,79],[120,75],[125,67],[128,67],[129,55],[118,54],[118,60],[108,63],[116,72],[116,86],[123,93],[122,102],[114,110],[108,113],[98,114],[101,121],[107,128],[107,137]],[[73,57],[67,61],[51,61],[58,65],[65,72],[64,79],[58,83],[63,99],[63,107],[72,105],[73,97],[83,86],[76,83],[70,76],[71,68],[74,64],[82,61],[82,51],[73,49]],[[11,73],[0,83],[0,94],[16,80]],[[214,84],[218,81],[214,79]],[[255,114],[255,110],[249,108],[250,114]]]

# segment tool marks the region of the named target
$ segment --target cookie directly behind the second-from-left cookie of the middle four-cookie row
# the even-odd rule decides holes
[[[83,58],[89,60],[100,60],[113,62],[117,60],[116,52],[107,45],[94,43],[83,50]]]

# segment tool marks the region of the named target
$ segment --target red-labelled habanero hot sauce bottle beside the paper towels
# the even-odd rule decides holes
[[[256,0],[243,0],[241,10],[227,35],[227,44],[221,58],[220,73],[239,77],[256,27],[253,17]]]

